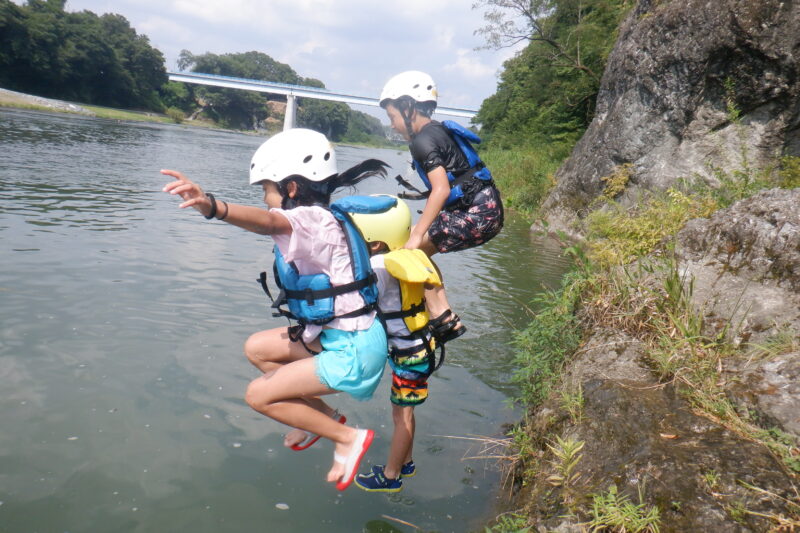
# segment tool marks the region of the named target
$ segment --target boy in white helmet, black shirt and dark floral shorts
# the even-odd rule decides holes
[[[437,100],[433,79],[414,70],[391,78],[380,97],[392,128],[409,141],[414,168],[428,189],[422,215],[405,244],[428,257],[483,244],[500,232],[504,221],[500,193],[470,144],[480,139],[452,121],[431,120]],[[439,342],[466,331],[450,310],[444,287],[426,297]]]

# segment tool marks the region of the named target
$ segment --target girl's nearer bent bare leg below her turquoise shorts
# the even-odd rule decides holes
[[[256,378],[247,387],[245,400],[250,407],[278,422],[332,440],[336,444],[335,453],[347,456],[358,436],[356,429],[340,424],[306,401],[338,392],[320,383],[315,365],[313,359],[305,358],[281,366],[270,377]],[[334,461],[328,481],[338,481],[343,475],[344,465]]]

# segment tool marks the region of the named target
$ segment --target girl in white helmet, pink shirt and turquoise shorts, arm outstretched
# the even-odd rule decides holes
[[[319,397],[344,391],[369,399],[383,374],[387,344],[374,302],[365,296],[374,287],[371,278],[364,275],[364,283],[356,279],[354,250],[360,246],[367,254],[366,245],[363,240],[351,243],[346,224],[327,206],[333,191],[385,175],[385,167],[372,159],[339,173],[324,135],[304,129],[279,133],[261,145],[250,165],[250,183],[263,188],[268,210],[217,200],[180,172],[161,171],[175,178],[163,190],[179,195],[181,208],[193,207],[206,219],[224,220],[275,241],[287,301],[304,327],[261,331],[247,340],[245,354],[263,375],[247,387],[245,400],[256,411],[298,428],[286,436],[287,447],[303,448],[298,446],[302,441],[316,440],[312,434],[332,440],[334,464],[327,480],[339,490],[352,482],[373,432],[345,425]],[[315,295],[314,305],[304,309],[291,288],[307,281],[312,288],[324,282],[328,293],[326,298]],[[314,315],[323,304],[327,314]]]

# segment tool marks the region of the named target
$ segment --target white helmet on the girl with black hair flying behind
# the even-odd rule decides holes
[[[289,176],[322,181],[338,172],[336,152],[321,133],[303,128],[286,130],[267,139],[250,161],[250,185],[280,182]]]

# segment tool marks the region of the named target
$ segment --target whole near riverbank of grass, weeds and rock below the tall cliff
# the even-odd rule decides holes
[[[800,528],[798,162],[594,204],[515,337],[493,531]]]

